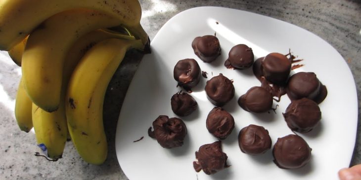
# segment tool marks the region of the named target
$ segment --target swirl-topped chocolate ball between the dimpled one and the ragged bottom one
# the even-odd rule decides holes
[[[206,126],[209,133],[224,140],[234,128],[234,119],[225,109],[215,107],[207,116]]]

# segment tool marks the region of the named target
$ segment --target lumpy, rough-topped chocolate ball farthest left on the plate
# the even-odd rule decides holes
[[[155,138],[164,148],[173,148],[183,145],[187,128],[184,122],[177,118],[169,118],[166,115],[160,115],[153,121],[153,128],[148,129],[148,135]]]

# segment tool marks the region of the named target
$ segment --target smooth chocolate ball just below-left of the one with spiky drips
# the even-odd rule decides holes
[[[249,112],[261,113],[272,108],[272,94],[263,87],[254,86],[238,99],[238,105]]]

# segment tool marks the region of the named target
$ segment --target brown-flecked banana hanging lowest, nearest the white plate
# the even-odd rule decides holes
[[[79,154],[90,164],[102,164],[107,157],[105,91],[129,48],[143,50],[143,44],[140,40],[101,41],[84,55],[71,75],[65,106],[68,128]]]

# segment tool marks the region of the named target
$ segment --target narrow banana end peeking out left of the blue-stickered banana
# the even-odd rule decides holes
[[[31,116],[32,104],[33,102],[31,102],[24,89],[23,78],[21,78],[15,99],[15,118],[20,130],[27,133],[33,128]]]

